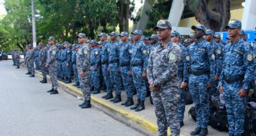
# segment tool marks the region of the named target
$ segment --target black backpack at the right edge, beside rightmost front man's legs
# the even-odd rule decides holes
[[[244,119],[244,135],[256,135],[256,103],[250,102],[247,104]]]

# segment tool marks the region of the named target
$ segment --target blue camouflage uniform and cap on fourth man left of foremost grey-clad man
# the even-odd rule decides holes
[[[107,36],[106,33],[100,33],[98,36]],[[109,48],[109,41],[105,41],[102,43],[102,48],[100,50],[100,55],[101,55],[101,67],[102,67],[102,73],[103,73],[103,78],[104,82],[106,83],[106,88],[107,92],[111,93],[112,92],[112,83],[110,78],[110,73],[108,72],[108,58],[109,58],[109,53],[108,53],[108,48]]]

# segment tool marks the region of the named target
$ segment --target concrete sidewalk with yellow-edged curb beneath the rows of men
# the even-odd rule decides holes
[[[41,72],[36,71],[36,74],[42,77]],[[48,82],[49,76],[48,76]],[[74,83],[66,84],[64,82],[58,81],[59,87],[63,88],[67,93],[70,93],[76,96],[79,99],[83,98],[82,91],[79,88],[73,87]],[[139,130],[147,135],[157,135],[157,125],[156,125],[156,117],[155,117],[155,108],[152,104],[150,104],[149,97],[145,100],[145,110],[140,112],[135,112],[134,110],[130,110],[129,107],[126,108],[121,106],[121,103],[111,103],[108,100],[104,100],[101,96],[105,95],[106,92],[101,91],[101,93],[97,95],[92,95],[92,105],[95,108],[100,109],[104,113],[109,116],[123,122],[130,127]],[[113,93],[114,94],[114,93]],[[126,93],[122,91],[122,101],[126,100]],[[134,101],[136,102],[137,97],[134,95]],[[192,119],[191,116],[188,116],[189,109],[193,106],[193,104],[186,106],[186,111],[184,114],[184,126],[181,128],[181,135],[189,135],[191,131],[193,131],[196,127],[196,123]],[[168,132],[169,134],[169,132]],[[228,132],[219,132],[213,129],[210,125],[208,126],[208,135],[218,135],[225,136],[229,135]]]

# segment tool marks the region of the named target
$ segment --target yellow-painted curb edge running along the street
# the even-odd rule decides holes
[[[36,74],[38,74],[39,77],[43,77],[41,72],[36,71]],[[47,75],[47,78],[49,79],[49,76]],[[83,96],[82,91],[79,88],[73,87],[72,85],[68,85],[64,82],[58,81],[59,85],[62,87],[68,88],[72,93],[75,93],[77,95]],[[140,125],[143,129],[148,130],[148,132],[151,132],[152,134],[157,135],[158,134],[158,127],[155,122],[149,121],[148,119],[145,119],[144,117],[141,117],[137,114],[131,113],[127,111],[126,109],[119,108],[118,106],[115,106],[114,104],[111,104],[105,100],[102,100],[100,98],[97,98],[95,96],[91,96],[91,100],[93,103],[100,104],[102,106],[105,106],[108,109],[111,109],[111,111],[114,111],[118,114],[120,114],[122,117],[128,119],[129,121],[134,122],[137,125]],[[170,130],[168,129],[168,135],[170,135]],[[184,134],[180,134],[181,136],[185,136]]]

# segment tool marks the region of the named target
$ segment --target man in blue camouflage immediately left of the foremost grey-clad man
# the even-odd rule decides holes
[[[144,102],[147,95],[145,78],[147,78],[148,51],[145,44],[140,40],[142,31],[135,30],[132,34],[134,35],[135,43],[132,45],[132,57],[130,59],[132,70],[130,71],[130,75],[133,77],[134,86],[137,90],[137,103],[131,106],[130,109],[142,111],[145,109]]]

